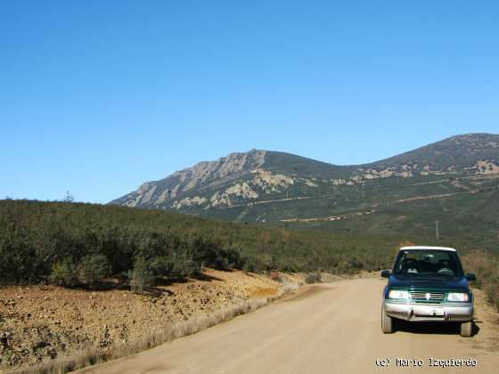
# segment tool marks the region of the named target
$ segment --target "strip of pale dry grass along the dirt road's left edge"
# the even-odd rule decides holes
[[[36,366],[29,366],[18,370],[9,371],[15,374],[29,374],[33,372],[43,374],[62,374],[72,370],[78,370],[97,363],[115,360],[130,354],[136,354],[154,346],[160,346],[163,343],[185,337],[208,329],[218,323],[229,321],[235,316],[249,313],[266,305],[278,297],[269,297],[264,299],[249,300],[240,305],[233,305],[222,309],[209,316],[194,316],[187,321],[173,323],[164,329],[155,329],[140,340],[128,344],[119,344],[113,346],[109,351],[102,351],[96,346],[87,346],[78,352],[68,355],[61,355],[55,360],[42,362]]]

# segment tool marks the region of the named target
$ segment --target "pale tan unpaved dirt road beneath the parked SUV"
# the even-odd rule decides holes
[[[474,337],[455,326],[404,325],[380,330],[380,295],[386,280],[341,280],[307,286],[299,294],[190,337],[157,346],[86,373],[366,373],[499,372],[497,316],[478,292]],[[397,357],[421,367],[397,366]],[[378,359],[390,366],[377,366]],[[429,358],[474,359],[476,367],[431,367]]]

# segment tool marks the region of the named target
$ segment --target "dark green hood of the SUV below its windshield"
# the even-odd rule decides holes
[[[464,277],[443,277],[428,275],[392,274],[389,277],[390,287],[400,287],[406,289],[438,289],[468,290],[468,280]]]

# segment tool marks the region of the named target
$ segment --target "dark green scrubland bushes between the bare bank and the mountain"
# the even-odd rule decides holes
[[[467,237],[296,230],[231,224],[159,210],[29,200],[0,201],[0,283],[93,287],[113,276],[143,291],[202,267],[251,272],[378,271],[404,241],[459,248],[467,271],[499,304],[496,248]],[[492,240],[490,240],[492,241]],[[469,253],[470,250],[474,252]],[[310,277],[310,281],[316,281]]]

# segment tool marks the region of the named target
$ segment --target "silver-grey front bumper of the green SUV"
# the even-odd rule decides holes
[[[383,301],[385,313],[405,321],[471,321],[473,304],[416,304],[413,302]]]

